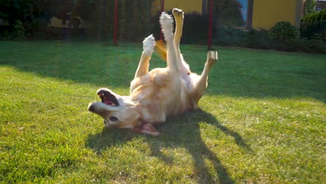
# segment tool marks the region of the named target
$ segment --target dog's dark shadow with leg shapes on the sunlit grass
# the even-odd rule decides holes
[[[193,177],[199,179],[199,181],[203,183],[235,183],[222,162],[217,158],[218,155],[213,153],[203,141],[200,123],[213,125],[217,131],[233,137],[235,143],[244,151],[251,152],[251,148],[237,132],[226,128],[212,114],[203,112],[201,109],[187,112],[160,125],[157,130],[162,134],[158,137],[139,135],[130,132],[130,130],[103,128],[101,133],[88,137],[86,146],[101,154],[107,147],[118,146],[132,140],[134,137],[141,136],[145,138],[150,146],[151,154],[164,160],[166,164],[172,164],[173,158],[164,155],[161,151],[162,148],[185,148],[189,151],[194,160],[195,171]],[[212,162],[218,178],[210,174],[205,159]]]

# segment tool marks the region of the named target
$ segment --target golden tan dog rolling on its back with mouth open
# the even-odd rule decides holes
[[[155,47],[151,35],[143,40],[143,53],[134,79],[130,96],[121,96],[109,89],[97,91],[102,102],[91,102],[88,110],[102,116],[109,128],[130,128],[149,135],[159,135],[153,126],[166,118],[196,109],[207,87],[208,72],[217,61],[217,52],[210,51],[201,75],[190,72],[189,65],[180,54],[183,30],[183,11],[173,9],[176,32],[173,36],[173,17],[162,13],[160,25],[166,40],[166,68],[148,72],[150,57]]]

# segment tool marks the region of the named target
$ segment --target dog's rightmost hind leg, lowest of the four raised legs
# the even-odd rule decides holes
[[[212,66],[217,62],[217,52],[209,51],[207,53],[207,61],[205,63],[205,67],[201,75],[196,80],[196,84],[194,84],[194,88],[190,91],[192,95],[192,99],[195,102],[195,105],[198,105],[199,99],[203,96],[203,92],[207,87],[208,73],[212,70]]]

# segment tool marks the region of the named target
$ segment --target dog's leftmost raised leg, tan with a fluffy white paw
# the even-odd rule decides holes
[[[150,35],[143,40],[143,53],[141,54],[141,59],[134,78],[141,77],[148,73],[149,61],[154,52],[154,47],[155,38],[153,35]]]

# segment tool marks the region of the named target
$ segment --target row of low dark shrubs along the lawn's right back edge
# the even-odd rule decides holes
[[[285,30],[279,30],[284,28]],[[321,39],[298,39],[298,32],[290,23],[277,23],[272,31],[265,29],[240,30],[220,27],[213,36],[213,45],[277,49],[286,52],[313,52],[326,54],[326,43]],[[277,31],[276,31],[277,30]],[[289,31],[290,30],[290,31]],[[279,33],[280,35],[274,35]],[[281,40],[283,39],[283,40]]]

